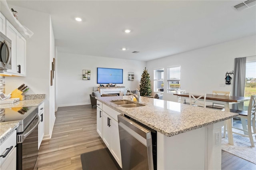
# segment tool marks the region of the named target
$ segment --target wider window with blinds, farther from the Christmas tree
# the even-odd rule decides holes
[[[168,67],[168,88],[167,93],[176,93],[180,89],[180,65]]]

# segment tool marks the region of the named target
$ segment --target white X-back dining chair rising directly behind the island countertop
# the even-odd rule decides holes
[[[190,105],[206,108],[206,93],[188,93]],[[201,101],[201,100],[203,101]]]

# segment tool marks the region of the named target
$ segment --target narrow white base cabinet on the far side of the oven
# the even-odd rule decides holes
[[[44,138],[44,102],[38,106],[38,116],[40,117],[40,122],[38,125],[38,149]]]

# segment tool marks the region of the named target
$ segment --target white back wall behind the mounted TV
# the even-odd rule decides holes
[[[90,104],[90,94],[97,87],[97,67],[123,69],[123,84],[139,89],[146,62],[114,59],[58,52],[58,107]],[[91,70],[91,79],[82,80],[82,70]],[[128,81],[128,72],[134,72],[134,81]]]

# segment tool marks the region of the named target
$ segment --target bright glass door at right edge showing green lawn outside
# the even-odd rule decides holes
[[[256,95],[256,56],[246,57],[244,97]],[[244,102],[244,110],[248,110],[249,101]]]

